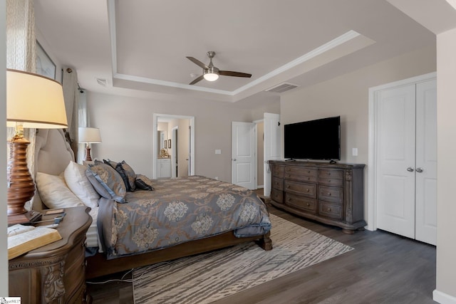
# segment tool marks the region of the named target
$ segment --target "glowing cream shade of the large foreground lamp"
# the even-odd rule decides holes
[[[6,125],[58,129],[68,127],[62,85],[22,70],[6,70]]]

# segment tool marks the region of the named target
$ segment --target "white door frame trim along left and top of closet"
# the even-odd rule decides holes
[[[376,223],[376,208],[377,202],[375,200],[376,196],[376,174],[377,172],[377,130],[376,130],[376,96],[377,93],[381,90],[390,89],[390,88],[398,88],[404,85],[411,85],[413,83],[420,83],[427,80],[432,80],[437,78],[437,73],[427,73],[424,75],[415,76],[412,78],[407,78],[403,80],[394,81],[392,83],[385,83],[383,85],[378,85],[372,88],[369,88],[369,98],[368,98],[368,119],[369,119],[369,126],[368,126],[368,205],[367,205],[367,214],[368,214],[368,226],[367,229],[374,231],[377,229]]]

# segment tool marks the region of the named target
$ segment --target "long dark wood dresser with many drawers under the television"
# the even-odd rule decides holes
[[[269,161],[271,204],[338,226],[348,234],[364,221],[364,164]]]

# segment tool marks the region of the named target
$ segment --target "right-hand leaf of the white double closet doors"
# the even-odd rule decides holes
[[[416,86],[415,239],[437,243],[437,83]]]

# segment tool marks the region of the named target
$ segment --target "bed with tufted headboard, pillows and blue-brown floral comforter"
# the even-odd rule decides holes
[[[87,169],[73,159],[62,130],[38,131],[31,208],[90,207],[86,278],[249,241],[272,248],[266,205],[249,189],[202,176],[150,180],[123,161]]]

